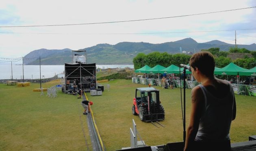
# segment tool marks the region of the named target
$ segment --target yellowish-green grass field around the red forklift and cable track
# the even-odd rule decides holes
[[[42,84],[43,88],[60,84],[52,81]],[[162,89],[160,99],[165,108],[165,128],[156,128],[132,115],[132,99],[135,88],[131,80],[109,81],[110,90],[102,96],[90,96],[93,101],[95,122],[107,151],[130,146],[129,129],[132,119],[146,145],[165,145],[183,140],[180,89]],[[58,93],[57,98],[49,98],[44,92],[33,92],[39,84],[27,87],[0,84],[0,150],[87,150],[91,147],[87,121],[82,115],[81,99],[77,96]],[[105,88],[106,89],[106,88]],[[183,90],[182,90],[183,92]],[[186,90],[186,126],[189,122],[191,90]],[[236,96],[237,115],[232,122],[231,142],[248,141],[248,136],[256,134],[256,97]],[[183,97],[183,95],[182,95]],[[85,138],[82,129],[85,130]],[[86,140],[86,141],[85,141]]]

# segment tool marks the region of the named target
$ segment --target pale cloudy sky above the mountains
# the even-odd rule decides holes
[[[41,48],[79,50],[102,43],[159,44],[184,38],[235,44],[234,30],[236,44],[253,44],[256,8],[248,7],[255,6],[256,0],[1,0],[0,57],[24,57]],[[240,8],[247,9],[233,10]],[[223,10],[233,11],[210,13]],[[193,15],[201,13],[210,14]],[[183,15],[191,16],[177,17]],[[129,22],[104,23],[115,21]],[[85,23],[90,24],[66,25]]]

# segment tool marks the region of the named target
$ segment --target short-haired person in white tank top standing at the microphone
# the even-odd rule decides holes
[[[192,75],[201,82],[191,91],[191,115],[184,151],[230,151],[230,125],[236,117],[232,85],[214,76],[210,52],[192,55]]]

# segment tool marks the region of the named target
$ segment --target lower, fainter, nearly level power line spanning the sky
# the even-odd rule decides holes
[[[206,31],[175,31],[175,32],[152,32],[152,33],[71,33],[71,34],[77,34],[77,35],[129,35],[129,34],[179,34],[179,33],[196,33],[196,32],[217,32],[217,31],[239,31],[239,30],[256,30],[256,28],[252,29],[228,29],[228,30],[206,30]],[[0,32],[2,34],[70,34],[70,33],[24,33],[24,32]],[[239,35],[239,34],[237,34]],[[244,35],[242,35],[244,36]],[[249,36],[250,37],[250,36]]]

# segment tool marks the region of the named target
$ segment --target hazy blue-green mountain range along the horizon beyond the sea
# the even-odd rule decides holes
[[[202,49],[220,48],[220,51],[228,51],[234,44],[228,44],[219,40],[198,43],[192,38],[185,38],[175,42],[165,42],[161,44],[151,44],[147,42],[119,42],[115,45],[97,44],[96,46],[83,48],[86,50],[87,63],[97,63],[98,65],[131,65],[134,57],[138,53],[148,54],[150,52],[167,52],[170,54],[182,51],[198,52]],[[237,45],[238,48],[256,50],[256,44]],[[74,54],[77,54],[74,53]],[[81,53],[78,53],[81,54]],[[28,53],[24,58],[24,63],[28,65],[64,65],[72,62],[72,50],[65,48],[62,50],[39,49]]]

